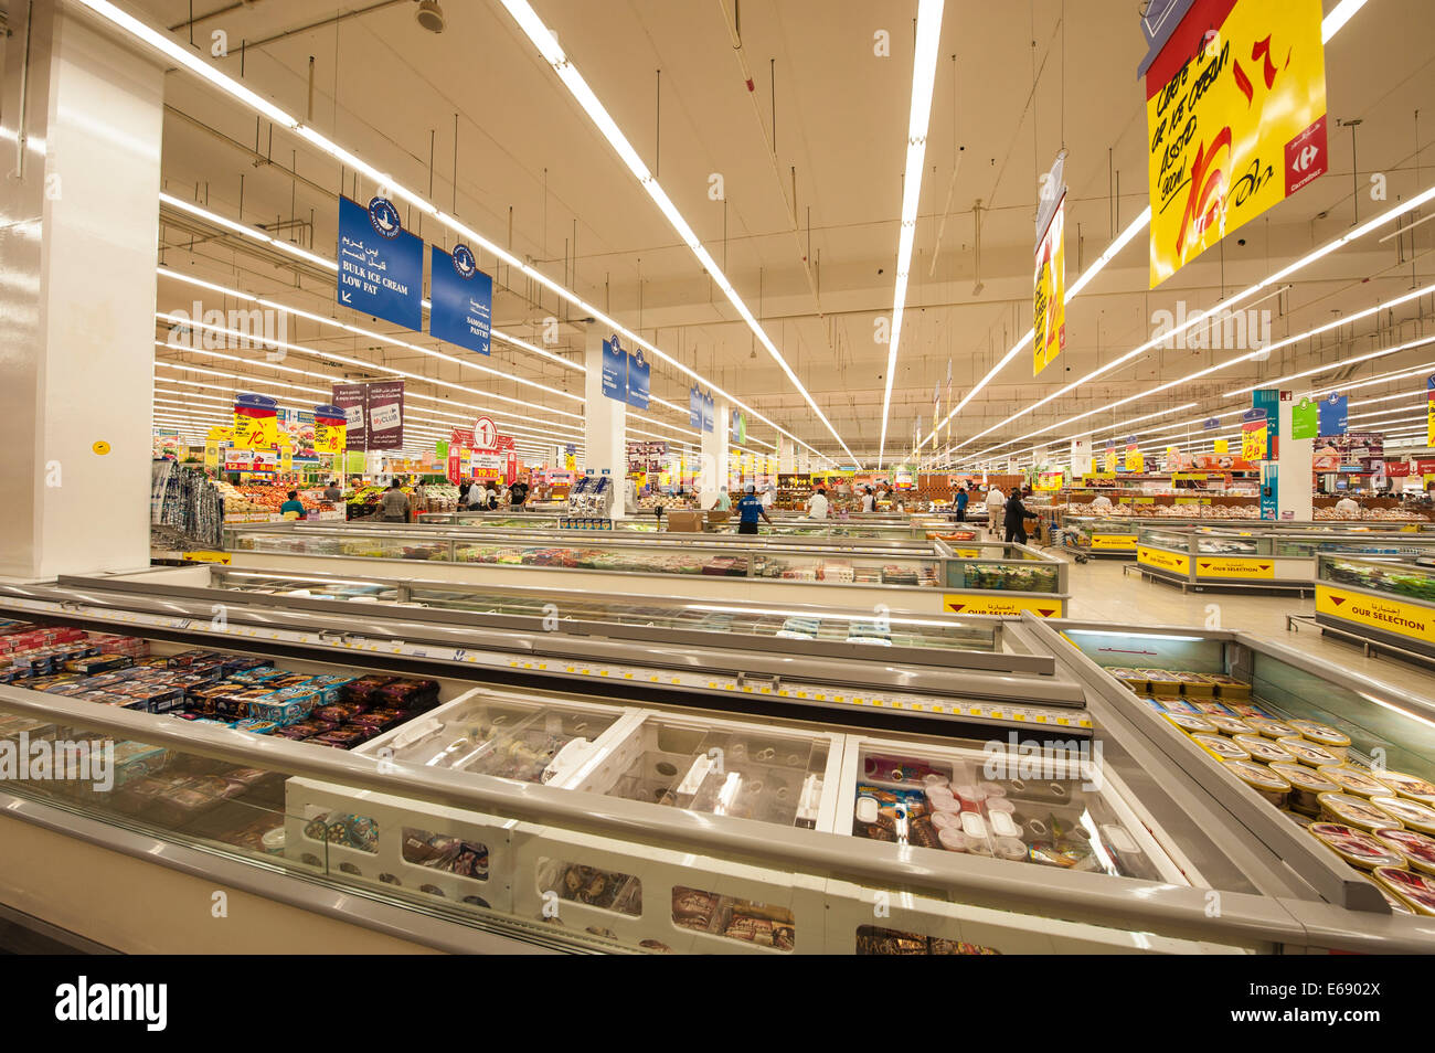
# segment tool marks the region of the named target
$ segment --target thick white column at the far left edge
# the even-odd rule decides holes
[[[0,575],[148,567],[164,69],[57,0],[7,29]]]

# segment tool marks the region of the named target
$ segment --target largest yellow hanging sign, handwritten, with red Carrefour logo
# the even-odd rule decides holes
[[[1197,0],[1147,70],[1151,287],[1329,166],[1320,0]]]

